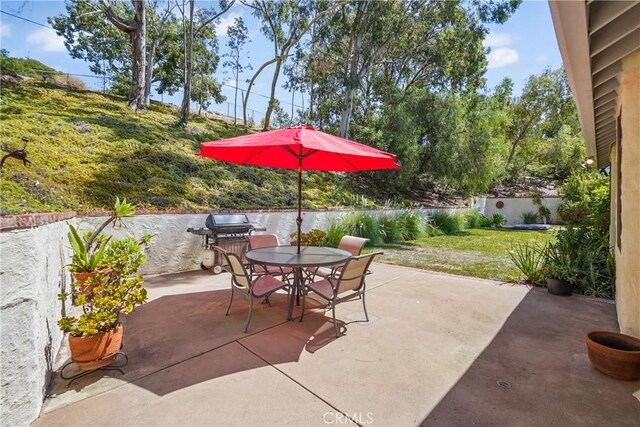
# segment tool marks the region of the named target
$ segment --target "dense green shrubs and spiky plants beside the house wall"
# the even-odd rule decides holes
[[[544,285],[547,278],[569,282],[585,295],[613,298],[615,265],[609,246],[610,179],[596,171],[574,172],[560,188],[564,226],[554,239],[516,243],[509,254],[521,277]]]

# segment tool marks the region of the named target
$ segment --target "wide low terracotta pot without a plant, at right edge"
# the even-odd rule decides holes
[[[619,380],[640,379],[640,339],[617,332],[593,331],[584,337],[594,368]]]

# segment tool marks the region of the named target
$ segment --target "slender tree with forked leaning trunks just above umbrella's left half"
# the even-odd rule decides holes
[[[256,79],[265,68],[275,64],[271,78],[269,105],[264,119],[264,130],[269,129],[271,114],[275,106],[275,92],[283,62],[291,49],[300,42],[313,24],[352,0],[319,2],[314,0],[241,0],[253,10],[253,15],[261,22],[262,33],[273,43],[273,58],[265,61],[249,80],[244,97],[242,117],[247,125],[247,104]]]

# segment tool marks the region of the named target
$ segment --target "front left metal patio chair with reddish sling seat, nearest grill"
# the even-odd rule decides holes
[[[224,257],[227,261],[227,265],[225,265],[224,268],[231,273],[231,298],[229,299],[229,305],[227,306],[225,316],[229,315],[235,291],[239,291],[249,298],[249,316],[247,317],[247,322],[244,325],[244,332],[246,333],[249,328],[249,322],[251,321],[251,314],[253,312],[253,299],[265,298],[265,301],[269,306],[271,306],[271,303],[269,302],[269,295],[273,294],[277,290],[286,289],[288,296],[290,286],[270,274],[262,273],[251,275],[247,273],[247,270],[238,255],[227,252],[218,246],[214,246],[213,249]]]

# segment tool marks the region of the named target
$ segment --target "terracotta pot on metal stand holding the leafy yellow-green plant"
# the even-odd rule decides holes
[[[110,365],[122,348],[124,328],[115,329],[88,337],[69,336],[71,358],[82,370],[97,369]]]

